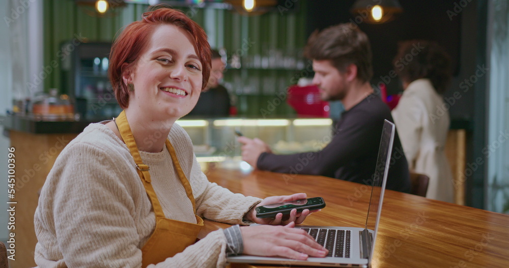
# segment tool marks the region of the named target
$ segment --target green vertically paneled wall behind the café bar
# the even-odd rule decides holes
[[[281,61],[271,60],[267,65],[267,59],[277,54],[281,60],[299,59],[296,57],[307,37],[306,3],[298,4],[299,8],[293,11],[259,16],[242,16],[219,9],[179,8],[204,27],[212,47],[224,47],[229,59],[234,54],[239,56],[242,67],[228,69],[224,75],[239,115],[273,117],[294,113],[285,103],[285,95],[276,93],[286,92],[286,87],[306,72],[293,65],[282,66]],[[63,42],[76,37],[85,38],[87,42],[111,42],[119,29],[141,18],[147,8],[147,5],[128,4],[115,8],[115,16],[96,17],[90,15],[90,8],[78,7],[72,0],[44,0],[44,65],[52,61],[59,64],[44,80],[45,91],[56,87],[61,93],[67,93],[68,89],[61,85],[60,68],[65,51],[60,46]]]

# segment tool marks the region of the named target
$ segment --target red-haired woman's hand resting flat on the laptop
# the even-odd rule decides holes
[[[305,260],[308,256],[325,257],[328,250],[316,243],[312,236],[302,229],[286,226],[242,226],[244,254],[257,256],[279,256]]]

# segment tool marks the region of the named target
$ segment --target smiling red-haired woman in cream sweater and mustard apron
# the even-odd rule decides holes
[[[210,183],[191,139],[174,124],[209,78],[210,47],[199,25],[173,9],[147,12],[124,29],[110,55],[109,77],[124,111],[89,125],[56,159],[35,213],[38,265],[222,267],[229,254],[327,254],[290,228],[309,210],[255,216],[257,206],[304,193],[261,200]],[[195,243],[201,217],[237,225]],[[252,222],[286,226],[239,226]]]

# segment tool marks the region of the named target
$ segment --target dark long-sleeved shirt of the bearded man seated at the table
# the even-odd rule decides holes
[[[389,107],[372,94],[343,112],[331,142],[319,152],[293,155],[263,153],[257,166],[280,173],[323,175],[372,184],[384,120],[393,122]],[[317,137],[326,140],[326,137]],[[398,132],[394,137],[387,189],[409,192],[410,175]]]

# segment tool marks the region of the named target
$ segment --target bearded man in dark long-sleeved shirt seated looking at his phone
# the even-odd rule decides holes
[[[341,101],[345,111],[332,140],[318,152],[273,154],[261,139],[239,137],[242,160],[252,167],[280,173],[322,175],[366,185],[373,172],[384,120],[392,120],[389,107],[375,95],[371,46],[367,35],[352,24],[330,26],[313,33],[304,48],[312,59],[313,84],[324,101]],[[392,148],[387,189],[410,191],[410,178],[401,142],[396,135]]]

